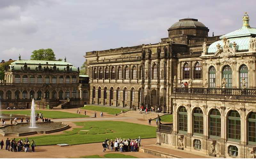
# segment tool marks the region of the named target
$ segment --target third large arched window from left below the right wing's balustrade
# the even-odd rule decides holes
[[[221,133],[220,111],[218,109],[212,109],[210,113],[210,135],[220,137],[220,133]]]

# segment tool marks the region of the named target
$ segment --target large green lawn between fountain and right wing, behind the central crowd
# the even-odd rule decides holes
[[[128,123],[123,121],[87,121],[75,122],[81,128],[74,128],[72,131],[64,131],[64,134],[42,135],[29,138],[34,140],[36,145],[56,145],[66,143],[69,145],[103,142],[106,138],[155,138],[156,127]],[[89,130],[89,131],[81,131]],[[143,141],[143,140],[142,140]],[[99,143],[102,144],[102,143]]]

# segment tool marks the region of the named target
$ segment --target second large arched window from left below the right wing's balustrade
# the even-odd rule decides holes
[[[200,108],[196,108],[193,113],[194,116],[194,133],[204,134],[204,118],[203,111]]]

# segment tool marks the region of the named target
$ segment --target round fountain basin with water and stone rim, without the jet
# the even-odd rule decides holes
[[[36,122],[37,128],[29,128],[29,123],[17,123],[0,127],[0,134],[3,136],[27,136],[33,134],[50,134],[67,130],[69,125],[61,122]]]

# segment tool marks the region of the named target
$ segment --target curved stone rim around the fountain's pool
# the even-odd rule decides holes
[[[36,122],[36,123],[47,123],[47,122]],[[51,121],[50,123],[53,123],[53,121]],[[62,122],[56,122],[56,123],[62,123]],[[0,127],[0,134],[2,134],[3,136],[17,136],[18,137],[18,136],[27,136],[27,135],[34,135],[34,134],[50,134],[50,133],[67,130],[69,128],[69,124],[65,124],[65,126],[57,128],[57,129],[45,130],[45,131],[30,131],[30,132],[25,132],[25,133],[5,133],[3,130],[1,130],[4,127],[18,125],[18,124],[28,124],[28,123],[17,123],[17,124],[3,125],[2,127]]]

